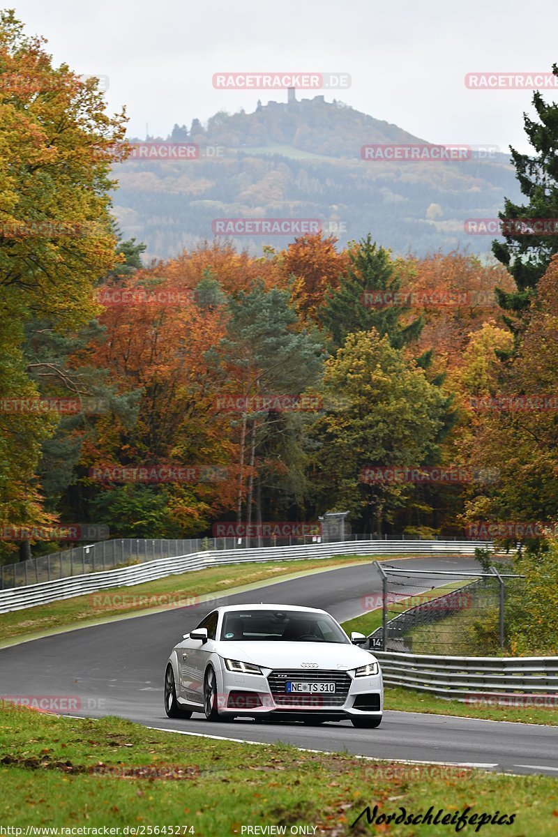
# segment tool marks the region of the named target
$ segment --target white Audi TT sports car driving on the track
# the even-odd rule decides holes
[[[292,604],[217,608],[184,634],[165,673],[165,711],[378,727],[380,666],[325,610]]]

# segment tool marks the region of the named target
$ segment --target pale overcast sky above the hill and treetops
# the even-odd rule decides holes
[[[541,72],[558,61],[558,4],[399,0],[14,0],[55,63],[109,77],[129,136],[166,136],[175,122],[251,111],[286,91],[215,90],[216,72],[351,74],[338,98],[428,141],[511,144],[526,151],[526,90],[468,90],[477,71]],[[315,95],[299,92],[299,98]],[[558,99],[558,91],[545,92]]]

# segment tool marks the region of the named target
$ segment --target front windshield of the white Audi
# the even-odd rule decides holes
[[[223,617],[221,639],[228,642],[348,643],[345,632],[327,614],[297,610],[235,610]]]

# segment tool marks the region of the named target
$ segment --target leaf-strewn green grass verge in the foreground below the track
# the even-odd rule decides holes
[[[223,735],[229,730],[233,735],[223,725]],[[300,824],[330,837],[422,837],[433,834],[431,826],[374,829],[366,818],[351,824],[366,806],[379,806],[378,814],[398,814],[401,806],[417,814],[433,805],[450,814],[468,806],[469,815],[516,814],[513,825],[488,824],[483,835],[550,837],[558,809],[555,778],[223,742],[115,717],[79,720],[9,705],[0,707],[0,782],[0,823],[23,829],[128,825],[148,834],[149,827],[172,825],[192,826],[182,834],[223,837],[241,834],[243,825],[285,825],[289,834]]]

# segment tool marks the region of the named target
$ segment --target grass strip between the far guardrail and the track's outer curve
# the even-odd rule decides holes
[[[267,564],[233,564],[166,576],[133,587],[110,588],[99,593],[59,599],[34,608],[0,614],[0,647],[16,637],[47,634],[75,625],[95,624],[110,618],[156,609],[185,606],[198,597],[223,593],[238,585],[251,585],[296,573],[320,573],[327,567],[344,567],[376,560],[370,556],[334,556],[323,560],[284,561]],[[124,597],[124,598],[123,598]],[[212,608],[212,603],[208,603]]]

